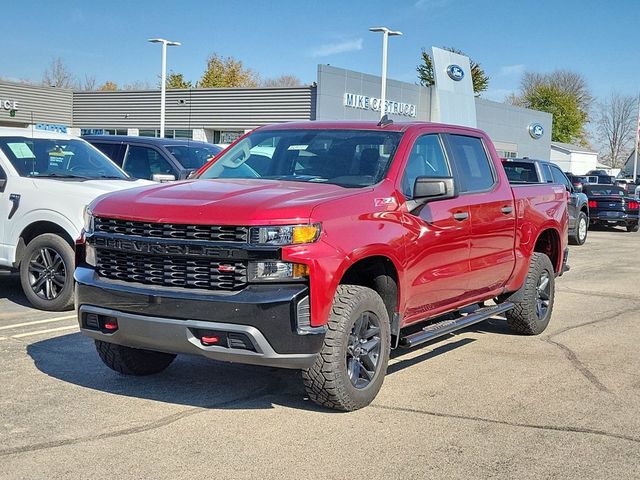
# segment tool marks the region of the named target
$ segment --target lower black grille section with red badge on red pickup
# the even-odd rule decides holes
[[[165,287],[238,290],[247,284],[245,262],[140,255],[97,249],[98,275]]]

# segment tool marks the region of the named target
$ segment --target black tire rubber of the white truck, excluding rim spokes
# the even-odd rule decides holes
[[[39,255],[39,252],[43,251],[43,249],[47,252],[54,252],[53,255],[55,258],[60,258],[62,260],[62,265],[59,266],[58,271],[60,272],[64,270],[65,273],[64,286],[52,299],[39,296],[34,292],[31,286],[32,283],[37,281],[37,277],[34,276],[32,270],[32,261],[36,261],[36,257]],[[70,310],[73,307],[74,268],[75,255],[73,248],[64,238],[53,233],[38,235],[27,244],[20,261],[20,283],[22,285],[22,291],[31,305],[40,310],[47,310],[50,312]],[[56,285],[55,288],[60,287]],[[43,292],[41,293],[45,295]]]

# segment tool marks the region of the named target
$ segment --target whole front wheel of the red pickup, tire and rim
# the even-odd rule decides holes
[[[358,285],[340,285],[333,300],[322,350],[303,370],[315,403],[352,411],[376,397],[387,371],[391,329],[380,295]]]

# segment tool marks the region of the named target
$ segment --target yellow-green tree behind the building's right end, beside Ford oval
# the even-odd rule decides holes
[[[511,95],[507,101],[553,114],[553,141],[589,145],[585,125],[593,96],[579,73],[568,70],[525,72],[520,81],[520,93]]]

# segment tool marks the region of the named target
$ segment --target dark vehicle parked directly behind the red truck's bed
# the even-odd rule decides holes
[[[584,245],[589,229],[589,200],[584,193],[576,190],[560,167],[551,162],[531,158],[503,159],[502,165],[512,185],[555,183],[564,186],[569,192],[569,243]]]

